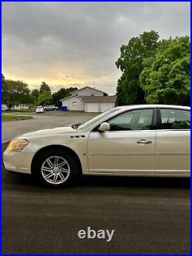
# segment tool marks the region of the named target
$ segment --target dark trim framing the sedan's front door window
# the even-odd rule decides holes
[[[130,131],[154,131],[154,130],[157,130],[157,108],[135,108],[135,109],[130,109],[130,110],[127,110],[127,111],[122,111],[121,113],[118,113],[116,115],[114,115],[113,117],[111,118],[108,118],[106,119],[105,121],[102,121],[101,123],[103,122],[108,122],[110,121],[111,119],[113,118],[116,118],[118,117],[119,115],[123,115],[125,113],[128,113],[128,112],[131,112],[131,111],[137,111],[137,110],[147,110],[147,109],[151,109],[153,111],[153,114],[152,114],[152,122],[151,122],[151,128],[150,129],[146,129],[146,130],[130,130]],[[91,132],[101,132],[98,130],[99,126],[101,125],[101,123],[99,123],[99,125],[95,126]],[[126,131],[126,130],[120,130],[120,131]],[[106,132],[119,132],[119,131],[106,131]]]

